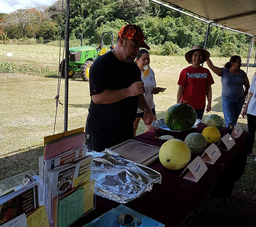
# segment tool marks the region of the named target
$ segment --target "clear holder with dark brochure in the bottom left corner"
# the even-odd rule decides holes
[[[39,183],[34,170],[0,182],[0,221],[7,226],[27,224],[26,216],[39,208]]]

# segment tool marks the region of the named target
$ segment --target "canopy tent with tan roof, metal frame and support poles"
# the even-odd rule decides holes
[[[247,57],[247,70],[250,54],[256,36],[256,1],[255,0],[150,0],[172,10],[179,11],[193,18],[208,23],[205,46],[210,24],[229,30],[245,33],[251,36],[249,53]],[[66,0],[66,29],[65,29],[65,113],[64,131],[68,130],[68,55],[69,55],[69,7],[70,0]],[[168,5],[167,5],[167,4]],[[170,6],[170,5],[172,6]],[[183,10],[191,12],[189,14]]]

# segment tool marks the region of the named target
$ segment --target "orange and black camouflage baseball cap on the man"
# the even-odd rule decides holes
[[[117,36],[123,39],[131,39],[139,47],[150,50],[150,47],[144,41],[143,31],[136,24],[126,24],[121,28]]]

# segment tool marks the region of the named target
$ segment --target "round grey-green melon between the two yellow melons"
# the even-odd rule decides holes
[[[202,134],[197,132],[192,132],[188,134],[184,142],[190,148],[191,154],[203,153],[204,150],[207,148],[206,138]]]

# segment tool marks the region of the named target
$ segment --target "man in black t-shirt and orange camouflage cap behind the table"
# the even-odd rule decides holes
[[[144,123],[152,123],[141,71],[134,62],[140,47],[150,49],[141,28],[127,24],[118,32],[116,47],[98,57],[90,68],[92,98],[85,128],[90,150],[101,152],[132,138],[138,107],[144,111]]]

